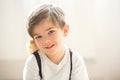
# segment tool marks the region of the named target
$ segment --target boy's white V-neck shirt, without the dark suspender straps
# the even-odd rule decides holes
[[[42,66],[40,79],[39,68],[34,55],[31,55],[24,67],[23,80],[69,80],[70,75],[70,53],[66,48],[65,56],[59,64],[51,62],[47,56],[39,52]],[[82,57],[72,50],[72,75],[71,80],[89,80],[85,63]]]

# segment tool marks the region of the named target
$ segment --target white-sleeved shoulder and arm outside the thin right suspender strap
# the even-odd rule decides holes
[[[89,80],[85,62],[80,53],[72,50],[73,52],[73,72],[72,80]]]

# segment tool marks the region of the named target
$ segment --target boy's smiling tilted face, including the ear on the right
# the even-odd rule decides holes
[[[38,49],[47,55],[60,53],[64,48],[63,38],[67,36],[68,26],[56,27],[50,20],[44,20],[33,30]]]

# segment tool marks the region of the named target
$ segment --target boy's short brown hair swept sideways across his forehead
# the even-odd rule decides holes
[[[32,11],[28,18],[27,31],[32,38],[34,27],[45,19],[51,20],[55,26],[60,28],[65,25],[65,15],[61,8],[52,4],[41,5]]]

